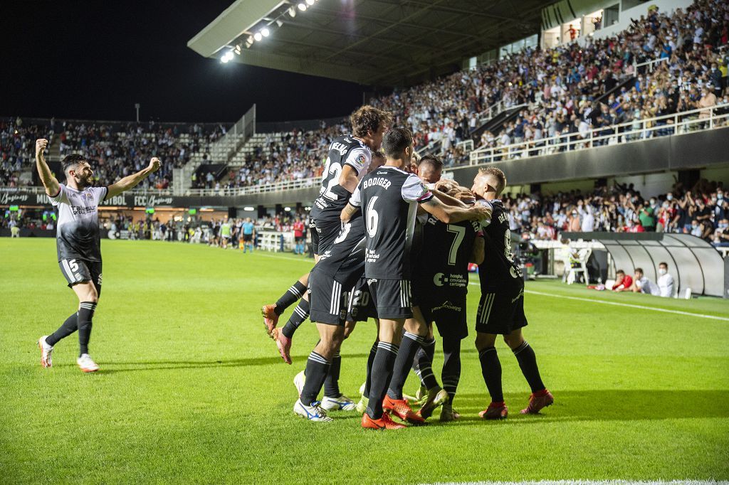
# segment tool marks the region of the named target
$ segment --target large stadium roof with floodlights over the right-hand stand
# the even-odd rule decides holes
[[[230,61],[252,66],[367,85],[408,85],[455,71],[465,58],[537,33],[541,9],[554,3],[292,2],[235,0],[187,46],[208,58],[222,58],[235,49],[240,54]],[[263,28],[270,35],[261,36]]]

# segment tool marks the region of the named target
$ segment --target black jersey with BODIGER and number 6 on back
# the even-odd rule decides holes
[[[383,166],[368,173],[349,203],[364,216],[364,276],[388,280],[410,277],[410,246],[418,202],[432,199],[412,173]]]

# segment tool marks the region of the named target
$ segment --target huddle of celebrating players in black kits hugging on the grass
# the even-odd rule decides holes
[[[350,121],[351,135],[330,145],[312,205],[316,264],[275,304],[262,307],[266,330],[286,363],[291,363],[292,337],[306,318],[319,331],[305,370],[294,379],[299,394],[294,412],[327,422],[332,420],[327,411],[357,411],[362,427],[373,429],[424,424],[439,407],[441,421],[458,419],[453,401],[461,375],[461,340],[468,335],[469,263],[479,265],[475,344],[491,395],[480,416],[504,419],[508,414],[494,346],[499,335],[531,387],[529,404],[521,412],[536,414],[550,406],[554,398],[521,331],[527,324],[524,283],[512,254],[508,213],[499,200],[504,173],[482,169],[471,189],[441,181],[440,159],[418,159],[412,133],[390,128],[389,113],[362,106]],[[278,317],[297,301],[279,328]],[[377,335],[362,397],[355,403],[339,390],[340,347],[355,323],[368,318],[375,320]],[[442,387],[432,371],[433,323],[443,339]],[[402,391],[410,370],[421,381],[417,411]]]

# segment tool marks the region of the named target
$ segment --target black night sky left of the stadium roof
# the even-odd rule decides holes
[[[0,117],[234,122],[348,114],[363,87],[222,64],[187,47],[233,0],[4,1]],[[332,95],[336,105],[327,103]]]

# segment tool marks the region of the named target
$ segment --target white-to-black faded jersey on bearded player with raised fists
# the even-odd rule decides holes
[[[58,184],[58,194],[48,197],[58,207],[56,249],[58,261],[78,258],[101,261],[101,232],[98,228],[98,205],[109,193],[107,187],[72,189]]]

